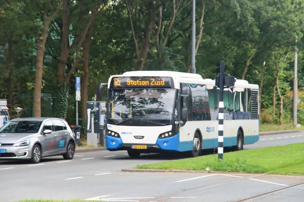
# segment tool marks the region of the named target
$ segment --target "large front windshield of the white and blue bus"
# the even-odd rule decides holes
[[[176,89],[110,89],[108,124],[167,125],[173,123]]]

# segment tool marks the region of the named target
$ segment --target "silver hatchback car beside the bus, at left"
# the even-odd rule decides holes
[[[27,159],[39,163],[43,157],[62,155],[72,159],[73,131],[59,118],[18,118],[0,128],[0,160]]]

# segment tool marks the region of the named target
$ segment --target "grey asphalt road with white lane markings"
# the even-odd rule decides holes
[[[257,143],[244,148],[298,142],[304,142],[304,133],[263,135]],[[71,161],[65,161],[60,156],[45,158],[35,165],[22,161],[0,161],[0,201],[238,201],[282,188],[284,190],[254,201],[301,201],[304,197],[303,184],[289,187],[304,182],[304,177],[298,176],[121,171],[138,164],[181,158],[184,157],[147,154],[133,160],[126,151],[97,151],[77,153]]]

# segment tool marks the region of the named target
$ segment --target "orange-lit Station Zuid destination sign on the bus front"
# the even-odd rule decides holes
[[[150,77],[150,76],[132,76],[132,77],[113,77],[111,87],[115,88],[171,88],[173,80],[171,77]]]

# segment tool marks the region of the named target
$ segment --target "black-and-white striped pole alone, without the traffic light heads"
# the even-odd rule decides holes
[[[220,61],[219,72],[219,105],[218,105],[218,159],[223,159],[223,133],[224,133],[224,61]]]

